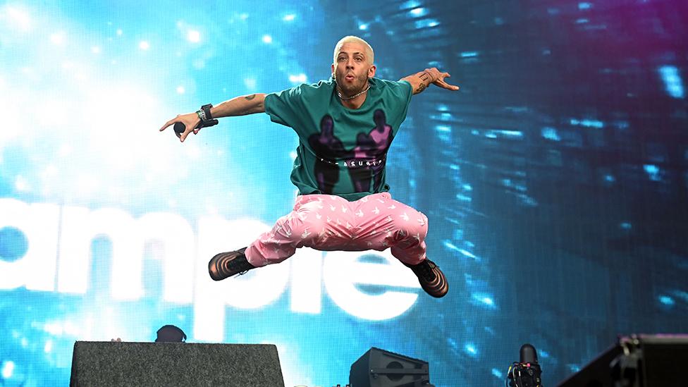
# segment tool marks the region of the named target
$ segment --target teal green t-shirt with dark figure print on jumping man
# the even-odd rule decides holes
[[[369,82],[359,109],[342,105],[333,79],[266,95],[270,119],[299,136],[291,180],[301,195],[338,195],[354,201],[389,190],[387,151],[413,93],[406,81]]]

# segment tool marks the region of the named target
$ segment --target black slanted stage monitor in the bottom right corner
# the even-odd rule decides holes
[[[558,387],[688,386],[688,336],[622,337]]]

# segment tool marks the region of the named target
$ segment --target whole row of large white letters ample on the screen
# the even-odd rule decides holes
[[[300,249],[294,259],[281,264],[230,281],[212,281],[207,271],[210,257],[245,247],[269,230],[270,226],[255,219],[202,218],[195,235],[188,221],[176,214],[155,212],[135,219],[119,209],[61,208],[0,199],[0,228],[4,227],[22,231],[28,249],[13,262],[0,259],[0,289],[25,286],[29,290],[87,293],[92,275],[91,245],[102,235],[112,243],[111,271],[96,267],[93,275],[109,277],[113,300],[142,297],[145,246],[159,242],[164,255],[164,300],[193,302],[196,340],[223,340],[226,320],[231,324],[226,307],[265,307],[278,300],[288,284],[293,312],[319,314],[325,288],[345,312],[376,321],[398,317],[418,297],[417,279],[389,252]],[[369,254],[383,258],[383,262],[360,260]],[[376,285],[380,293],[366,293],[358,285]]]

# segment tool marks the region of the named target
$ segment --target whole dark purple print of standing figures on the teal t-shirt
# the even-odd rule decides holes
[[[318,156],[314,175],[318,188],[325,194],[333,192],[339,181],[340,166],[348,168],[355,192],[369,192],[371,183],[379,190],[385,168],[385,156],[394,139],[393,130],[386,123],[385,113],[374,112],[375,126],[369,133],[359,133],[356,146],[348,151],[334,135],[334,121],[329,115],[320,121],[320,133],[311,135],[308,144]],[[343,161],[338,161],[343,159]]]

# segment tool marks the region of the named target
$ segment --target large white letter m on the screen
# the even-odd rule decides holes
[[[142,259],[145,242],[158,240],[164,247],[163,297],[169,302],[191,302],[193,293],[193,245],[191,226],[181,216],[145,214],[133,219],[117,209],[88,211],[64,207],[60,238],[58,290],[86,293],[91,274],[90,248],[97,235],[112,242],[112,271],[95,268],[94,275],[109,276],[115,300],[137,300],[143,295]]]

